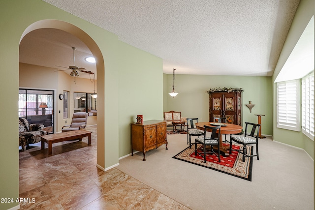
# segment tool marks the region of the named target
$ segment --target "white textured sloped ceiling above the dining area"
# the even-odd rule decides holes
[[[167,74],[271,76],[300,0],[44,1],[160,57]]]

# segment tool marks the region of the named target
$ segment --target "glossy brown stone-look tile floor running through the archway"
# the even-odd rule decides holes
[[[20,150],[20,203],[22,210],[189,210],[152,187],[113,168],[96,167],[96,126],[92,145],[87,137],[53,145],[53,154],[40,142]]]

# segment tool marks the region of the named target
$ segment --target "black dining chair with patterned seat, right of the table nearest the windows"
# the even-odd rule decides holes
[[[256,124],[256,123],[251,123],[251,122],[245,122],[246,127],[245,127],[245,134],[244,136],[233,136],[230,138],[230,151],[229,154],[232,153],[232,150],[238,151],[240,153],[243,154],[243,162],[245,162],[245,157],[253,157],[253,156],[257,156],[257,160],[259,160],[259,155],[258,155],[258,133],[259,133],[259,127],[260,124]],[[250,134],[247,134],[247,129],[248,129],[248,125],[252,126],[252,130]],[[257,132],[255,134],[255,132]],[[250,136],[250,137],[248,137]],[[251,138],[252,137],[252,138]],[[232,141],[238,143],[238,144],[242,144],[243,145],[243,150],[236,150],[236,149],[232,149]],[[256,154],[251,154],[249,155],[247,152],[247,145],[256,145]]]

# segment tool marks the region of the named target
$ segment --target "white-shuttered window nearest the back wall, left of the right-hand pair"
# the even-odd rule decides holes
[[[277,127],[300,131],[300,82],[277,83]]]

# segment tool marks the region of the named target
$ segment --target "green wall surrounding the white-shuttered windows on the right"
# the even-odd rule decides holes
[[[315,1],[314,0],[301,0],[299,7],[294,16],[291,28],[286,37],[284,47],[280,54],[275,72],[272,76],[272,82],[275,81],[285,61],[290,56],[293,48],[297,41],[302,35],[304,29],[309,23],[312,16],[315,15]],[[298,70],[297,70],[298,71]],[[301,75],[304,76],[304,75]],[[292,145],[294,147],[304,149],[314,159],[314,139],[310,139],[305,136],[302,132],[290,131],[281,128],[277,128],[277,87],[273,84],[273,136],[274,140],[282,142],[284,144]]]

